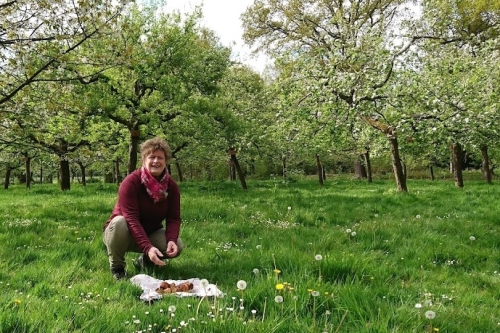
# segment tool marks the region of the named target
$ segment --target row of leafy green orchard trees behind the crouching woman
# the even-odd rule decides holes
[[[141,2],[142,3],[142,2]],[[200,10],[161,2],[11,1],[0,5],[0,163],[121,175],[138,144],[165,137],[182,181],[193,169],[280,172],[389,158],[453,166],[464,151],[486,181],[499,153],[500,3],[487,0],[255,0],[244,39],[274,60],[232,60]],[[112,166],[112,167],[111,167]],[[110,171],[113,170],[113,171]],[[190,170],[190,171],[188,171]],[[432,173],[431,173],[432,175]],[[108,175],[109,176],[109,175]]]

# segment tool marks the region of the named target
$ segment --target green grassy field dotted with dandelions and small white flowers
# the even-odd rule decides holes
[[[186,248],[147,273],[226,295],[152,304],[109,272],[116,185],[0,191],[0,332],[500,332],[498,183],[248,185],[180,184]]]

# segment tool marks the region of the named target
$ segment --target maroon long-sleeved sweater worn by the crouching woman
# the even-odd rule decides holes
[[[157,203],[148,195],[146,187],[141,183],[141,172],[136,170],[129,174],[118,189],[118,200],[113,208],[109,220],[122,215],[128,224],[128,229],[144,253],[148,253],[153,246],[148,235],[163,227],[166,221],[165,237],[169,241],[177,242],[181,226],[180,191],[177,183],[168,177],[168,196]]]

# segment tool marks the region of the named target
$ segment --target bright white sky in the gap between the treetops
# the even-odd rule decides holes
[[[231,46],[233,59],[248,64],[262,73],[267,58],[255,58],[242,40],[243,28],[240,15],[253,4],[254,0],[167,0],[167,11],[179,10],[191,13],[198,5],[203,6],[203,24],[215,31],[222,44]],[[232,45],[235,43],[235,45]]]

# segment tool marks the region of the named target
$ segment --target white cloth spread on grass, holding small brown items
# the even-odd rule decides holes
[[[149,302],[161,299],[164,295],[175,295],[177,297],[199,296],[199,297],[224,297],[224,293],[217,288],[215,284],[209,283],[206,288],[201,284],[201,279],[193,278],[187,280],[158,280],[146,274],[137,274],[130,278],[130,281],[142,289],[142,294],[139,297],[141,301]],[[159,294],[156,289],[160,288],[160,283],[166,281],[168,283],[175,283],[176,285],[191,282],[193,290],[189,292],[177,292],[174,294]]]

